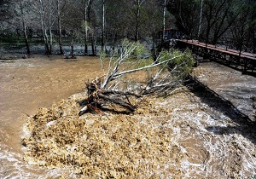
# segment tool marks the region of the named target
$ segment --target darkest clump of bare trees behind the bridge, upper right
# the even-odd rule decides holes
[[[167,9],[175,16],[177,28],[189,38],[213,44],[229,38],[235,48],[255,46],[253,0],[172,0]]]

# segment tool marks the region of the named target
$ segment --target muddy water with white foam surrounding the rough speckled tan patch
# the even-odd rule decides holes
[[[96,57],[65,60],[62,56],[35,55],[25,60],[0,61],[0,178],[84,177],[65,165],[51,169],[36,162],[30,165],[30,161],[24,160],[21,138],[26,132],[28,116],[38,113],[41,107],[51,107],[70,95],[83,92],[84,80],[101,75],[101,64]],[[140,127],[149,126],[148,129],[155,131],[153,134],[159,131],[166,134],[163,135],[166,146],[172,151],[163,152],[170,159],[155,158],[155,161],[161,160],[161,165],[145,161],[145,168],[138,177],[255,178],[255,78],[212,62],[201,64],[193,75],[204,85],[189,83],[172,95],[148,97],[148,106],[139,107],[131,116],[118,116],[124,118],[119,121],[125,121],[127,126],[133,120],[133,124]],[[62,103],[69,104],[70,101],[67,99]],[[67,109],[68,105],[65,107]],[[79,121],[86,120],[91,124],[92,119],[96,121],[90,114]],[[104,121],[109,129],[113,127],[111,118]],[[102,119],[98,123],[102,123]],[[137,136],[149,137],[147,131],[140,133],[136,125],[131,126]],[[130,131],[127,126],[123,129]],[[107,139],[112,140],[106,135]],[[134,146],[140,146],[140,142],[134,141]],[[148,151],[148,156],[154,159],[154,153]],[[47,155],[47,151],[44,154]]]

